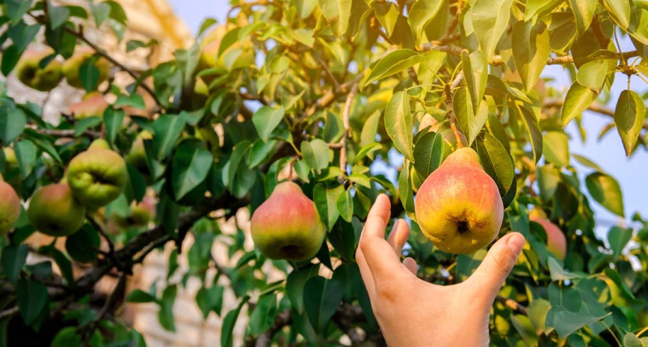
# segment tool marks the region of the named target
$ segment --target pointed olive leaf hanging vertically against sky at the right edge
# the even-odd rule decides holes
[[[614,110],[614,124],[623,142],[626,156],[632,154],[639,139],[645,114],[643,99],[635,91],[621,91]]]

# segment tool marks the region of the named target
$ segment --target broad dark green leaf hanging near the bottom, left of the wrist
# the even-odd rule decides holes
[[[321,276],[310,278],[304,285],[304,308],[310,324],[316,331],[323,331],[344,296],[340,280],[327,280]]]

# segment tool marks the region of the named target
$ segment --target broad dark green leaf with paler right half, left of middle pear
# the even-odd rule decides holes
[[[214,158],[198,139],[182,141],[173,156],[171,180],[177,200],[201,184],[211,168]]]

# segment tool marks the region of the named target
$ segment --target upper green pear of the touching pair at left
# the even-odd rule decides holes
[[[75,197],[89,208],[99,208],[115,200],[126,187],[126,162],[113,150],[86,150],[67,167],[67,183]]]

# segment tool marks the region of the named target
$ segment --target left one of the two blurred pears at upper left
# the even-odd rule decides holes
[[[63,79],[61,62],[52,59],[47,66],[40,67],[41,60],[54,54],[52,49],[28,49],[16,64],[16,75],[29,88],[50,91]]]

